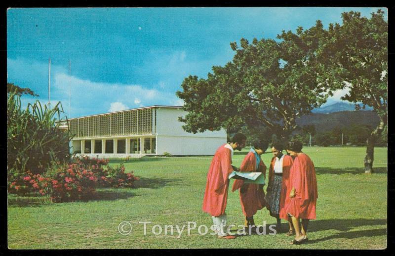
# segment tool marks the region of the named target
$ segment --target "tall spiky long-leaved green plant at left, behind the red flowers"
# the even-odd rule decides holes
[[[53,108],[40,101],[21,108],[20,96],[7,94],[7,170],[8,176],[18,176],[30,170],[42,174],[50,162],[69,159],[68,130],[59,129],[63,113],[58,102]]]

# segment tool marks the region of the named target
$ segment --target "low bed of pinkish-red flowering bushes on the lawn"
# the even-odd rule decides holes
[[[50,195],[53,202],[88,200],[96,194],[96,188],[131,188],[138,177],[125,173],[123,164],[108,166],[108,160],[77,158],[71,164],[54,163],[44,175],[9,176],[8,192],[24,195],[37,193]],[[104,168],[106,166],[106,168]]]

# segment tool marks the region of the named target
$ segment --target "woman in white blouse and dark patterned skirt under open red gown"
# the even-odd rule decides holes
[[[285,211],[285,198],[291,192],[289,184],[290,170],[293,164],[292,157],[282,154],[284,146],[281,143],[272,145],[273,158],[269,167],[269,182],[266,193],[268,201],[268,209],[270,216],[275,217],[277,221],[276,231],[281,232],[281,219],[287,220],[289,223],[289,231],[287,236],[294,235],[295,230],[292,225],[291,217]]]

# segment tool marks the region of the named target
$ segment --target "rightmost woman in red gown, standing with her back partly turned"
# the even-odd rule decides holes
[[[292,218],[295,239],[292,244],[302,244],[308,240],[309,220],[316,219],[316,200],[318,198],[316,170],[313,161],[302,152],[302,143],[291,141],[286,151],[294,158],[291,167],[291,192],[286,198],[285,209]],[[300,225],[299,220],[302,220]]]

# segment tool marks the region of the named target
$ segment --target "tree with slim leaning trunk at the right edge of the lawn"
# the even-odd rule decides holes
[[[343,24],[330,24],[320,33],[316,57],[321,64],[319,76],[333,89],[348,88],[342,97],[362,108],[373,108],[379,125],[367,138],[365,172],[373,167],[374,145],[380,136],[387,137],[388,116],[388,22],[384,12],[372,13],[370,19],[359,12],[342,14]]]

